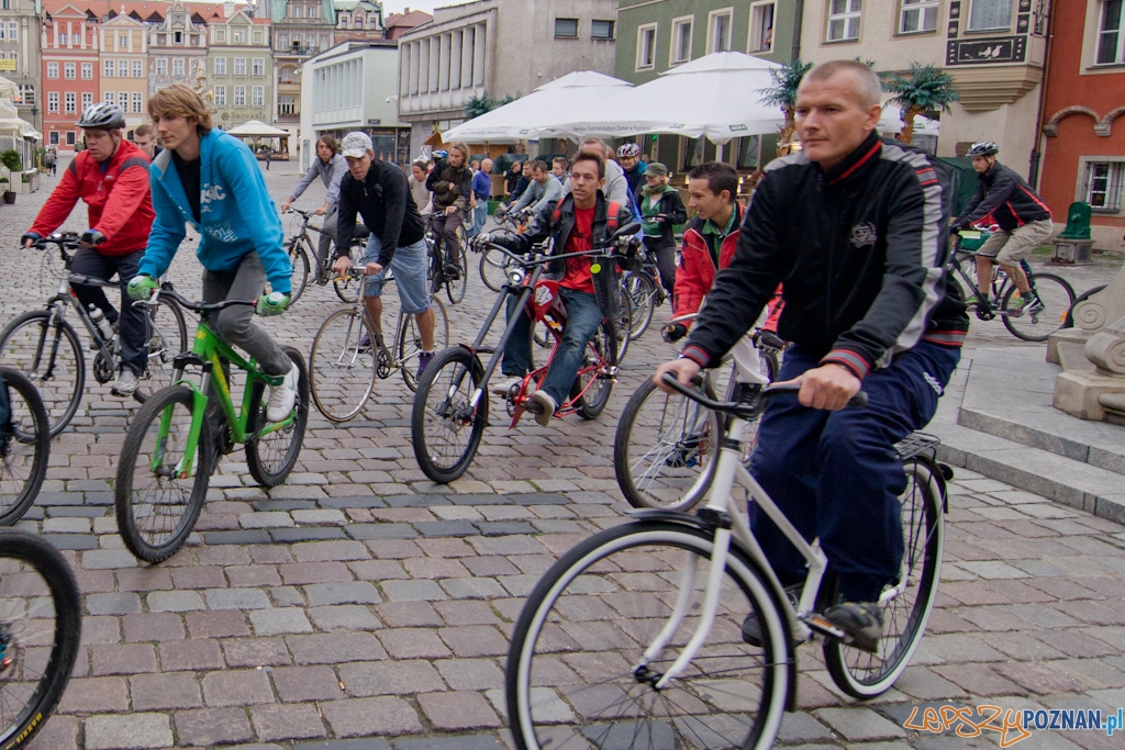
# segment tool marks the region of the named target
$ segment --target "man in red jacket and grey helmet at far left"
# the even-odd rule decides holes
[[[122,287],[120,315],[101,287],[74,284],[74,293],[87,308],[100,308],[118,327],[122,372],[111,388],[117,396],[130,396],[148,363],[148,318],[143,308],[133,307],[126,292],[126,284],[137,273],[155,216],[148,189],[148,157],[122,138],[125,112],[120,107],[91,105],[76,125],[83,129],[86,151],[76,154],[63,173],[24,235],[24,246],[57,229],[79,198],[86,201],[90,228],[82,234],[82,247],[71,270],[107,281],[116,273]]]

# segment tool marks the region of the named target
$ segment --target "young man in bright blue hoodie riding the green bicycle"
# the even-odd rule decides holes
[[[129,281],[134,299],[147,299],[168,270],[190,222],[199,232],[204,301],[258,299],[259,315],[280,315],[289,304],[292,266],[281,246],[278,209],[266,190],[258,160],[244,143],[213,129],[210,107],[177,83],[148,99],[148,115],[164,151],[152,165],[150,183],[156,220],[138,273]],[[266,281],[271,293],[266,293]],[[216,333],[240,346],[270,380],[266,418],[281,422],[297,401],[299,371],[253,310],[235,305],[213,318]]]

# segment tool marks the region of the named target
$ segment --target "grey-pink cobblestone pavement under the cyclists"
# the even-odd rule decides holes
[[[273,166],[280,202],[297,178]],[[36,253],[16,250],[56,180],[44,183],[0,207],[4,320],[42,305],[54,284]],[[68,226],[83,218],[80,209]],[[1064,273],[1081,291],[1115,269],[1100,261]],[[191,252],[173,273],[198,293]],[[454,338],[471,338],[490,300],[474,275],[465,304],[450,308]],[[307,353],[336,307],[314,288],[260,323]],[[972,342],[1019,345],[999,324],[978,325]],[[110,477],[135,405],[90,387],[20,523],[65,550],[86,606],[74,677],[35,747],[506,747],[498,696],[522,597],[575,542],[621,522],[616,416],[670,351],[655,331],[634,343],[596,421],[508,432],[494,412],[474,466],[447,487],[415,464],[402,380],[379,381],[351,423],[313,412],[282,487],[263,491],[241,452],[227,457],[197,533],[153,568],[123,548],[111,514]],[[902,724],[919,704],[1125,705],[1125,527],[968,471],[952,493],[940,598],[914,665],[896,689],[860,704],[832,686],[816,649],[801,649],[801,711],[785,719],[783,744],[991,747],[989,732],[970,740]],[[1098,732],[1036,732],[1020,743],[1112,746],[1120,740]]]

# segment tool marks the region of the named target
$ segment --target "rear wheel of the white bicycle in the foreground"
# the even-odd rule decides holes
[[[883,608],[883,640],[879,653],[868,653],[829,639],[825,663],[832,681],[860,699],[882,695],[910,663],[926,631],[942,580],[945,527],[939,469],[928,460],[904,462],[907,489],[902,503],[903,573],[907,586]],[[828,602],[839,599],[838,581],[827,584]]]

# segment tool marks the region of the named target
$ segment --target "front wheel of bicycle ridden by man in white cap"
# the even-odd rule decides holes
[[[363,410],[375,390],[375,342],[367,313],[336,310],[321,324],[308,354],[309,386],[316,408],[331,422],[348,422]]]

